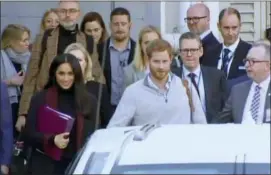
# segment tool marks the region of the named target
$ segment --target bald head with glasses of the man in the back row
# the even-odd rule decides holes
[[[210,10],[203,3],[192,5],[187,10],[186,22],[190,32],[201,35],[210,29]]]

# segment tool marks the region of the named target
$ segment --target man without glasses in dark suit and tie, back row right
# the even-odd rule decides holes
[[[241,15],[234,8],[223,9],[219,14],[218,28],[223,43],[210,49],[203,58],[202,64],[222,70],[227,79],[246,74],[243,60],[251,48],[251,44],[239,37]]]

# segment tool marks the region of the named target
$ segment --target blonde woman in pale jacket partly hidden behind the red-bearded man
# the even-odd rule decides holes
[[[149,73],[146,47],[155,39],[161,39],[161,34],[154,26],[146,26],[139,32],[134,61],[124,68],[124,82],[126,87],[144,78]]]

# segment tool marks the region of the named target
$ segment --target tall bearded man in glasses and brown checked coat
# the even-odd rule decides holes
[[[19,105],[19,117],[16,123],[18,131],[21,131],[21,128],[25,125],[25,117],[27,116],[31,97],[36,91],[42,90],[47,83],[52,59],[63,53],[71,43],[79,42],[86,47],[92,58],[94,80],[105,83],[93,38],[86,36],[78,29],[77,22],[81,15],[79,1],[60,1],[57,14],[60,22],[59,27],[38,35],[33,44],[32,56],[25,76]]]

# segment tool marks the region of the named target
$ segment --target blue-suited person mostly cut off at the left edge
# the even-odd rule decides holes
[[[0,116],[0,165],[1,173],[8,174],[13,150],[13,122],[8,90],[1,82],[1,116]]]

